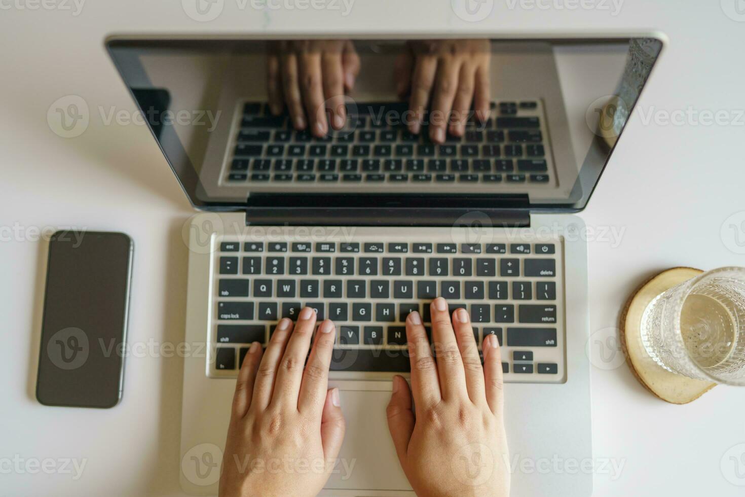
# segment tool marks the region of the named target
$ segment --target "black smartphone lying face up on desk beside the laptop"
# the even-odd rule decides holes
[[[42,404],[111,408],[121,399],[133,248],[120,232],[51,235],[37,376]]]

